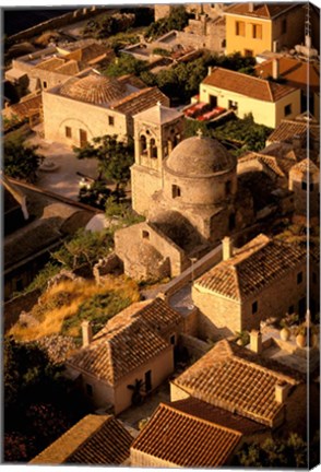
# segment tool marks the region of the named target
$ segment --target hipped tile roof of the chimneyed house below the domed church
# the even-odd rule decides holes
[[[234,257],[219,262],[194,283],[197,287],[245,300],[268,284],[295,270],[307,258],[306,249],[259,235]]]

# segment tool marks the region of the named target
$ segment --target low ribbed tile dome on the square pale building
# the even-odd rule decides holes
[[[60,87],[60,94],[81,102],[103,105],[122,98],[126,88],[117,79],[95,73],[81,79],[72,78]]]

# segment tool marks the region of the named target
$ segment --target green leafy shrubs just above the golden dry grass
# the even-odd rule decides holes
[[[93,267],[99,258],[109,253],[112,244],[112,235],[108,231],[90,232],[81,228],[51,256],[71,270],[85,263]]]

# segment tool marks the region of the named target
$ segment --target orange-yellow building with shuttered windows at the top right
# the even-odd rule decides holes
[[[304,40],[305,10],[298,3],[234,3],[225,11],[226,54],[257,56]]]

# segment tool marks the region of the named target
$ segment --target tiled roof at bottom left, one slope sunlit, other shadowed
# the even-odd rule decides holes
[[[129,457],[132,441],[114,416],[90,414],[29,463],[121,464]]]

